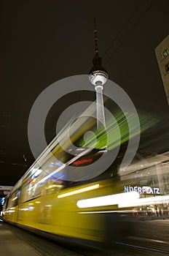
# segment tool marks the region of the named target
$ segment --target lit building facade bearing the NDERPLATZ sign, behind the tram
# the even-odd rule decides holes
[[[140,155],[141,156],[141,155]],[[169,219],[169,151],[135,159],[120,177],[124,192],[138,192],[141,203],[135,203],[137,217],[162,216]],[[149,200],[151,199],[151,200]]]

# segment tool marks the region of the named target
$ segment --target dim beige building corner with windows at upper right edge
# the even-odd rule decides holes
[[[155,48],[155,53],[169,105],[169,35]]]

